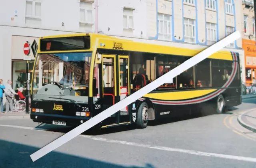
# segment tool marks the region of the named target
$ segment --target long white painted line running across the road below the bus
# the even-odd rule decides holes
[[[14,125],[0,125],[0,126],[27,129],[27,130],[38,130],[37,128],[26,127],[26,126],[14,126]],[[48,132],[46,129],[39,129],[39,131]],[[54,132],[54,133],[64,134],[64,133],[61,133],[61,132]],[[142,147],[142,148],[165,150],[165,151],[170,151],[170,152],[180,152],[180,153],[193,154],[193,155],[198,155],[198,156],[208,156],[208,157],[240,160],[240,161],[246,161],[246,162],[256,162],[256,158],[250,158],[250,157],[227,155],[227,154],[217,154],[217,153],[209,153],[209,152],[200,152],[200,151],[196,151],[196,150],[170,148],[170,147],[166,147],[166,146],[152,146],[152,145],[147,145],[147,144],[138,144],[138,143],[135,143],[135,142],[127,142],[127,141],[122,141],[122,140],[112,140],[112,139],[106,139],[106,138],[100,138],[100,137],[88,136],[88,135],[78,135],[78,136],[83,137],[83,138],[92,139],[92,140],[102,141],[102,142],[123,144],[123,145],[136,146],[136,147]]]

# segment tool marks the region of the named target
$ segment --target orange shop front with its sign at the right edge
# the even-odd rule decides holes
[[[246,86],[256,78],[256,43],[253,40],[242,39],[245,56],[245,79]]]

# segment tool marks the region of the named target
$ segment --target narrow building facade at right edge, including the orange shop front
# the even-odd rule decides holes
[[[245,79],[246,83],[252,83],[256,76],[254,1],[242,0],[242,12],[242,47],[245,58]]]

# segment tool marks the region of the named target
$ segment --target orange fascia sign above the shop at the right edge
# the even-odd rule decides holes
[[[244,49],[245,67],[256,67],[256,42],[242,39]]]

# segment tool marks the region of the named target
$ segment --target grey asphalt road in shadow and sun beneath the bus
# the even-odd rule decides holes
[[[256,99],[246,99],[221,115],[84,133],[36,162],[30,154],[69,128],[0,120],[0,168],[256,168],[256,133],[237,122],[253,108]]]

